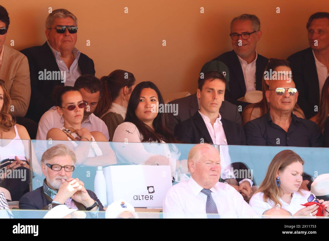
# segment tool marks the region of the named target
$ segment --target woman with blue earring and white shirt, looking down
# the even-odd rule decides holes
[[[264,211],[279,207],[290,211],[293,216],[314,216],[318,206],[304,207],[301,204],[318,202],[328,211],[328,201],[316,199],[310,191],[300,188],[303,181],[304,161],[291,150],[277,153],[269,164],[258,191],[251,197],[249,205],[261,215]],[[324,211],[324,216],[328,212]]]

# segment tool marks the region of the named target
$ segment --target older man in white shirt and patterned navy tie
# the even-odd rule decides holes
[[[194,146],[188,156],[191,178],[172,186],[163,202],[166,218],[237,218],[256,213],[230,185],[218,182],[220,156],[210,144]]]

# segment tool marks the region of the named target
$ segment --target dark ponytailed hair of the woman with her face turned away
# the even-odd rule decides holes
[[[94,111],[98,117],[104,115],[111,108],[113,100],[119,95],[119,91],[125,86],[131,89],[136,79],[131,72],[114,70],[108,76],[103,76],[100,81],[102,83],[102,95]]]

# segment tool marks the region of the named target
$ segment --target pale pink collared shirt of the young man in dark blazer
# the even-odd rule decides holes
[[[220,175],[221,178],[222,179],[234,178],[234,171],[232,173],[232,165],[231,165],[232,162],[231,162],[231,157],[229,154],[229,148],[227,146],[225,131],[223,128],[223,124],[221,122],[222,117],[218,113],[218,118],[216,119],[216,121],[214,123],[214,127],[213,127],[212,124],[210,123],[210,118],[208,116],[202,114],[200,112],[200,110],[198,110],[198,111],[199,111],[203,121],[206,124],[207,130],[213,141],[213,144],[219,145],[220,165],[222,167],[222,171],[221,171],[221,175]],[[239,182],[239,184],[244,181],[248,181],[250,184],[250,187],[252,187],[252,185],[254,183],[250,179],[244,178]]]

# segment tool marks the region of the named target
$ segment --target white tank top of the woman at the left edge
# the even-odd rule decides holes
[[[0,146],[0,161],[4,159],[15,159],[15,156],[20,160],[26,160],[23,141],[20,139],[16,125],[14,126],[16,136],[9,142],[8,145]],[[1,142],[1,140],[0,140]]]

